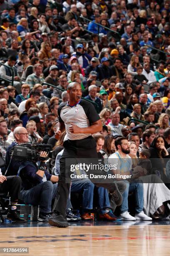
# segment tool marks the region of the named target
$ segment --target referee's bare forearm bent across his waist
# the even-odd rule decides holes
[[[89,127],[80,128],[77,125],[70,126],[70,132],[71,133],[97,133],[102,131],[102,122],[101,120],[97,120],[96,122],[92,123]]]

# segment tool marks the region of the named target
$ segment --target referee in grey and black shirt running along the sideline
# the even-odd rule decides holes
[[[68,227],[65,210],[67,198],[70,192],[70,183],[65,182],[66,159],[93,158],[97,159],[96,142],[92,138],[92,133],[102,130],[102,123],[93,105],[82,100],[82,90],[80,84],[72,82],[67,87],[70,100],[60,104],[58,108],[60,134],[64,129],[67,139],[64,141],[64,152],[60,159],[60,176],[57,187],[57,203],[55,213],[49,218],[48,222],[52,226],[59,228]],[[69,169],[69,173],[70,169]],[[93,182],[93,181],[92,181]],[[116,205],[121,205],[122,195],[115,183],[95,184],[98,187],[105,187],[113,195]]]

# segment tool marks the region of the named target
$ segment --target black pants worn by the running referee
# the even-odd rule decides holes
[[[92,138],[92,136],[89,136],[85,139],[81,140],[75,140],[70,141],[67,140],[63,143],[64,151],[62,154],[62,157],[60,159],[60,175],[59,175],[59,182],[57,187],[57,203],[55,206],[55,210],[57,212],[60,212],[61,215],[65,216],[65,210],[67,205],[67,198],[69,196],[70,192],[70,182],[65,182],[65,177],[67,174],[67,177],[70,177],[70,170],[66,168],[66,161],[68,159],[98,159],[97,151],[96,151],[96,142]],[[68,160],[69,161],[69,160]],[[77,163],[79,161],[77,160]],[[90,174],[90,172],[89,172]],[[110,180],[105,181],[108,183],[96,183],[94,179],[91,179],[91,181],[97,186],[97,187],[104,187],[108,189],[109,191],[112,189],[113,185],[110,183]]]

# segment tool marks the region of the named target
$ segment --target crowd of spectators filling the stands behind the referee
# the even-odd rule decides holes
[[[152,162],[152,172],[148,174],[157,175],[170,188],[170,169],[164,161],[170,156],[168,0],[1,0],[0,63],[5,64],[0,65],[3,175],[8,168],[8,175],[15,176],[20,168],[19,163],[10,161],[11,148],[20,143],[45,143],[53,148],[52,159],[48,160],[50,174],[46,174],[45,180],[32,169],[39,177],[29,171],[28,176],[36,180],[34,185],[57,182],[60,171],[55,159],[62,155],[65,136],[56,134],[57,109],[69,100],[67,85],[77,82],[82,97],[92,102],[102,121],[100,136],[94,135],[97,152],[102,152],[104,158],[115,154],[115,140],[123,136],[129,143],[133,141],[128,144],[132,159],[138,159],[140,152],[147,159],[161,159]],[[89,212],[95,189],[90,181],[83,182],[73,181],[71,193],[85,191],[85,186],[90,189],[88,198],[83,194],[81,216],[91,220]],[[28,189],[30,186],[25,185],[25,191]],[[57,186],[50,189],[52,200]],[[170,193],[164,192],[168,202]],[[115,216],[108,214],[107,190],[99,188],[95,193],[102,195],[102,199],[98,196],[100,218],[115,220]],[[169,213],[168,203],[164,205],[160,195],[162,205],[153,207],[155,211],[144,206],[148,216],[160,218],[165,217],[165,210]],[[28,204],[37,204],[31,196],[21,197]],[[12,207],[16,209],[15,204]],[[45,207],[41,208],[39,220],[49,218],[50,205],[46,210]],[[68,219],[79,220],[71,209],[69,201]]]

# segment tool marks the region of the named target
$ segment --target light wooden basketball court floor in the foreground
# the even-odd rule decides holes
[[[80,221],[68,228],[42,222],[0,224],[0,252],[2,247],[29,248],[29,253],[10,255],[168,256],[170,221]]]

